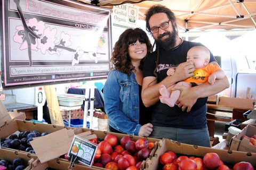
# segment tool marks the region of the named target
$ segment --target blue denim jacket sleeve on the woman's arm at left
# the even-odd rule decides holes
[[[112,128],[123,133],[138,135],[141,125],[133,122],[126,113],[123,113],[119,98],[120,89],[117,73],[110,71],[104,85],[105,112],[109,121],[114,124]]]

